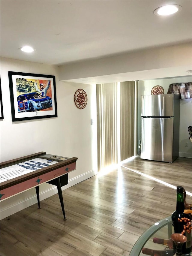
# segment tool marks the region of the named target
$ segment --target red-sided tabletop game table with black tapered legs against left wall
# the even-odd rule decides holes
[[[68,172],[75,170],[77,159],[38,152],[0,163],[0,200],[35,187],[40,209],[39,185],[56,185],[66,220],[61,187],[68,184]]]

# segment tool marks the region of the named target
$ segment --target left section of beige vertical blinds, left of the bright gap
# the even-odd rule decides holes
[[[98,170],[117,164],[117,83],[96,85]]]

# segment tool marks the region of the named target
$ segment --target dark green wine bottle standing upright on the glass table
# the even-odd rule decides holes
[[[190,218],[188,214],[184,213],[184,209],[184,189],[182,186],[177,186],[176,211],[171,216],[174,233],[182,233],[185,224],[182,218]],[[182,254],[189,254],[191,251],[191,232],[185,232],[184,235],[187,237],[187,242],[182,246]],[[173,243],[173,248],[176,249],[175,243]]]

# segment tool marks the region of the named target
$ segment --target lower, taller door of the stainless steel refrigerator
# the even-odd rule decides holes
[[[141,158],[173,162],[173,117],[141,117]]]

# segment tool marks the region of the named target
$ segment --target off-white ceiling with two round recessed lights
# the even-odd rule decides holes
[[[159,17],[167,4],[182,11]],[[0,1],[1,57],[63,65],[192,40],[192,1]],[[18,50],[24,45],[33,53]]]

